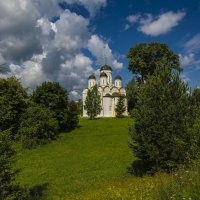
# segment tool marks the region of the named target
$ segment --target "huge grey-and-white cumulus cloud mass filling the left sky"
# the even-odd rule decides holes
[[[71,97],[79,98],[87,77],[97,70],[94,63],[103,59],[104,46],[109,64],[121,68],[112,50],[90,31],[90,19],[69,9],[62,10],[60,0],[0,1],[0,62],[10,70],[3,77],[16,76],[34,89],[43,81],[58,81]],[[84,6],[91,16],[105,7],[107,0],[66,0]],[[51,19],[59,16],[56,22]],[[100,45],[100,46],[96,46]],[[98,49],[99,48],[99,49]],[[83,50],[95,57],[89,58]],[[98,55],[99,53],[99,55]]]

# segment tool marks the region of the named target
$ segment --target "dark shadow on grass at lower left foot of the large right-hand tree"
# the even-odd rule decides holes
[[[135,160],[131,166],[128,167],[128,172],[137,177],[143,177],[149,170],[149,163],[144,160]]]

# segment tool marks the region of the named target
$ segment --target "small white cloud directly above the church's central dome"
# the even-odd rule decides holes
[[[106,42],[104,42],[98,35],[92,35],[88,40],[88,50],[96,57],[98,65],[107,63],[114,69],[121,69],[123,64],[115,59],[112,50]],[[106,60],[105,60],[106,59]]]

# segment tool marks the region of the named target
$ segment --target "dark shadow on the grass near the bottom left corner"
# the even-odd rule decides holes
[[[41,185],[35,185],[30,188],[30,200],[42,200],[44,199],[44,192],[48,188],[48,183]]]

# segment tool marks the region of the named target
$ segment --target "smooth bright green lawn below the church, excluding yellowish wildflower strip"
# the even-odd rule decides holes
[[[80,128],[51,144],[17,154],[17,181],[43,189],[46,199],[93,199],[99,188],[126,179],[133,161],[124,119],[81,119]],[[97,197],[96,197],[97,198]]]

